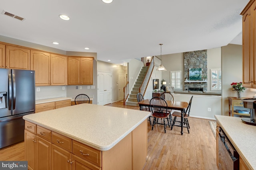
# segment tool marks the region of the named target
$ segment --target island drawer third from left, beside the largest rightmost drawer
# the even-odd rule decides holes
[[[52,132],[52,143],[55,145],[72,152],[72,139],[60,135],[56,132]]]

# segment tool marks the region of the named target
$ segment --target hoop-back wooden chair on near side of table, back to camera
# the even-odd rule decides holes
[[[166,126],[169,125],[170,127],[170,123],[168,119],[170,113],[167,110],[167,107],[168,107],[167,102],[161,97],[154,97],[150,100],[150,108],[153,113],[152,116],[154,117],[152,130],[155,124],[164,125],[164,133],[166,133]],[[158,123],[158,121],[156,121],[156,118],[164,119],[164,123]],[[165,124],[165,119],[167,119],[167,124]]]

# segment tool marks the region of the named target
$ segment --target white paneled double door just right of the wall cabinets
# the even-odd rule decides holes
[[[98,72],[98,105],[112,102],[112,73]]]

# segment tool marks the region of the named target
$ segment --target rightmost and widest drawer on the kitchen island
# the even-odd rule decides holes
[[[80,142],[73,140],[72,153],[80,158],[87,160],[97,166],[101,167],[101,154],[100,150],[94,149]]]

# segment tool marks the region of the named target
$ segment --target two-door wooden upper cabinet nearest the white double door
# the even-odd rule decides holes
[[[93,84],[93,57],[68,57],[68,85]]]

